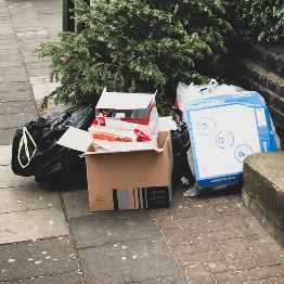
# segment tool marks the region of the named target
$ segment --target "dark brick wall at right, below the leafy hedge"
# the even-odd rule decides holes
[[[246,90],[258,91],[266,100],[284,149],[284,47],[258,43],[232,52],[231,59],[234,80]]]

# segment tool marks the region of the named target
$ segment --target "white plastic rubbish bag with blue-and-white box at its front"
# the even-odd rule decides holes
[[[176,105],[190,134],[188,163],[195,184],[184,196],[202,189],[221,189],[243,179],[243,162],[258,152],[280,150],[263,98],[232,85],[179,83]]]

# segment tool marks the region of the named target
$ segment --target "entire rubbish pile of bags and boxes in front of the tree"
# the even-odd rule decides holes
[[[181,160],[190,186],[219,189],[242,181],[244,158],[277,151],[264,100],[240,87],[179,83],[177,120],[159,117],[156,93],[107,92],[96,104],[29,121],[15,132],[14,173],[37,182],[88,182],[91,211],[169,207]],[[85,158],[81,158],[85,157]]]

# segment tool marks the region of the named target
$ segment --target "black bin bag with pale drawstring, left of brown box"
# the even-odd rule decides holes
[[[57,144],[68,127],[88,130],[95,118],[91,105],[68,108],[29,121],[16,130],[12,145],[12,170],[35,176],[37,182],[77,184],[86,181],[86,162],[78,151]]]

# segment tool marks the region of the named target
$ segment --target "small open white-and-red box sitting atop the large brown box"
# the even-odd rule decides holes
[[[102,118],[102,109],[112,109],[112,117],[103,117],[106,126],[139,129],[146,135],[155,137],[159,130],[155,96],[156,93],[120,93],[104,89],[95,106],[96,118]]]

